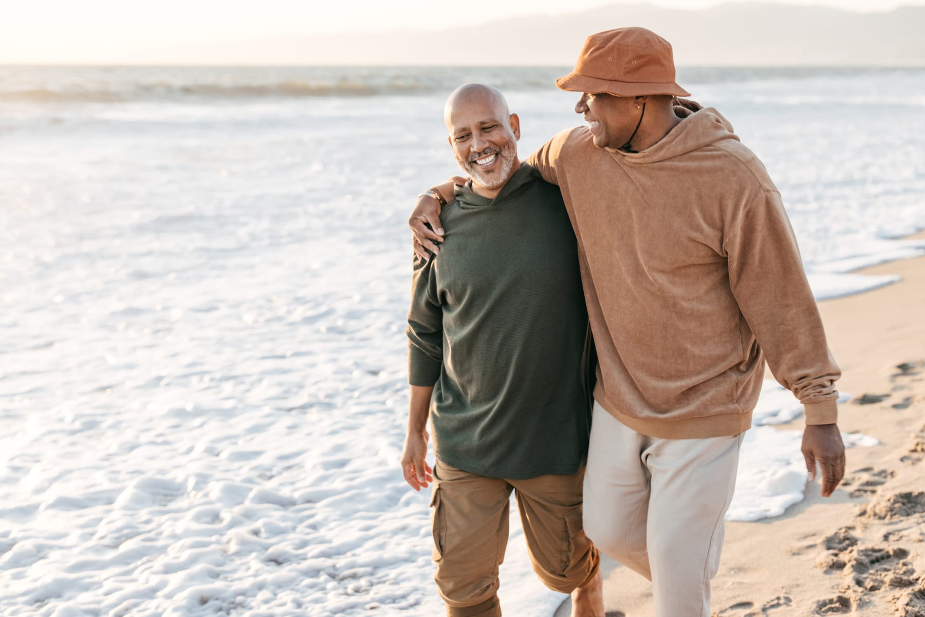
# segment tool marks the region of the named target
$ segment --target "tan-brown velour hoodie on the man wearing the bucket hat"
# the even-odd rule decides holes
[[[841,374],[780,193],[719,112],[676,111],[638,154],[578,127],[527,159],[560,186],[578,238],[595,399],[651,437],[735,435],[767,358],[808,424],[834,423]]]

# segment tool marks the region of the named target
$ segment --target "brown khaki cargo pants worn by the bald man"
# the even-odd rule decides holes
[[[550,589],[571,593],[597,574],[598,549],[582,527],[582,482],[573,475],[505,480],[437,461],[431,499],[434,561],[450,617],[499,617],[498,567],[508,544],[511,491],[517,496],[533,570]]]

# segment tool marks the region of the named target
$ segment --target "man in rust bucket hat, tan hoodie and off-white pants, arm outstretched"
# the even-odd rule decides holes
[[[707,617],[765,360],[804,404],[826,497],[845,472],[840,371],[780,193],[718,111],[675,98],[671,45],[599,32],[556,85],[587,125],[526,162],[561,189],[597,345],[585,531],[652,581],[657,617]],[[418,253],[438,252],[438,213],[419,199]]]

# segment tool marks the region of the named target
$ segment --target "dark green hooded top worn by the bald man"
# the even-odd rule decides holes
[[[414,260],[409,382],[434,386],[437,457],[511,479],[584,464],[587,315],[559,188],[522,166],[494,200],[457,188],[438,256]]]

